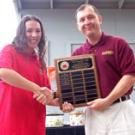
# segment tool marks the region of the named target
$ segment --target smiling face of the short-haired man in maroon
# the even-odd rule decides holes
[[[101,31],[102,18],[92,7],[77,13],[77,26],[86,37],[91,38]]]

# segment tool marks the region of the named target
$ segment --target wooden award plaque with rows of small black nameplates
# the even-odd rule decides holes
[[[60,104],[69,102],[74,107],[100,97],[95,58],[79,55],[55,60],[57,93]]]

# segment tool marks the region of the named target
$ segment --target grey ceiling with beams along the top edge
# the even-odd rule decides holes
[[[14,0],[14,2],[18,10],[76,9],[83,3],[91,3],[99,9],[135,9],[135,0]]]

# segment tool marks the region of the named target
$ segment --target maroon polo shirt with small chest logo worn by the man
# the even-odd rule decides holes
[[[119,38],[102,34],[96,45],[86,41],[72,55],[94,54],[102,97],[106,97],[123,75],[135,75],[134,54],[128,43]],[[130,93],[130,90],[129,90]]]

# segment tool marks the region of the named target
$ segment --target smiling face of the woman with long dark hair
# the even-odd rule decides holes
[[[42,31],[40,23],[35,20],[29,20],[25,23],[25,27],[28,48],[33,50],[41,40]]]

